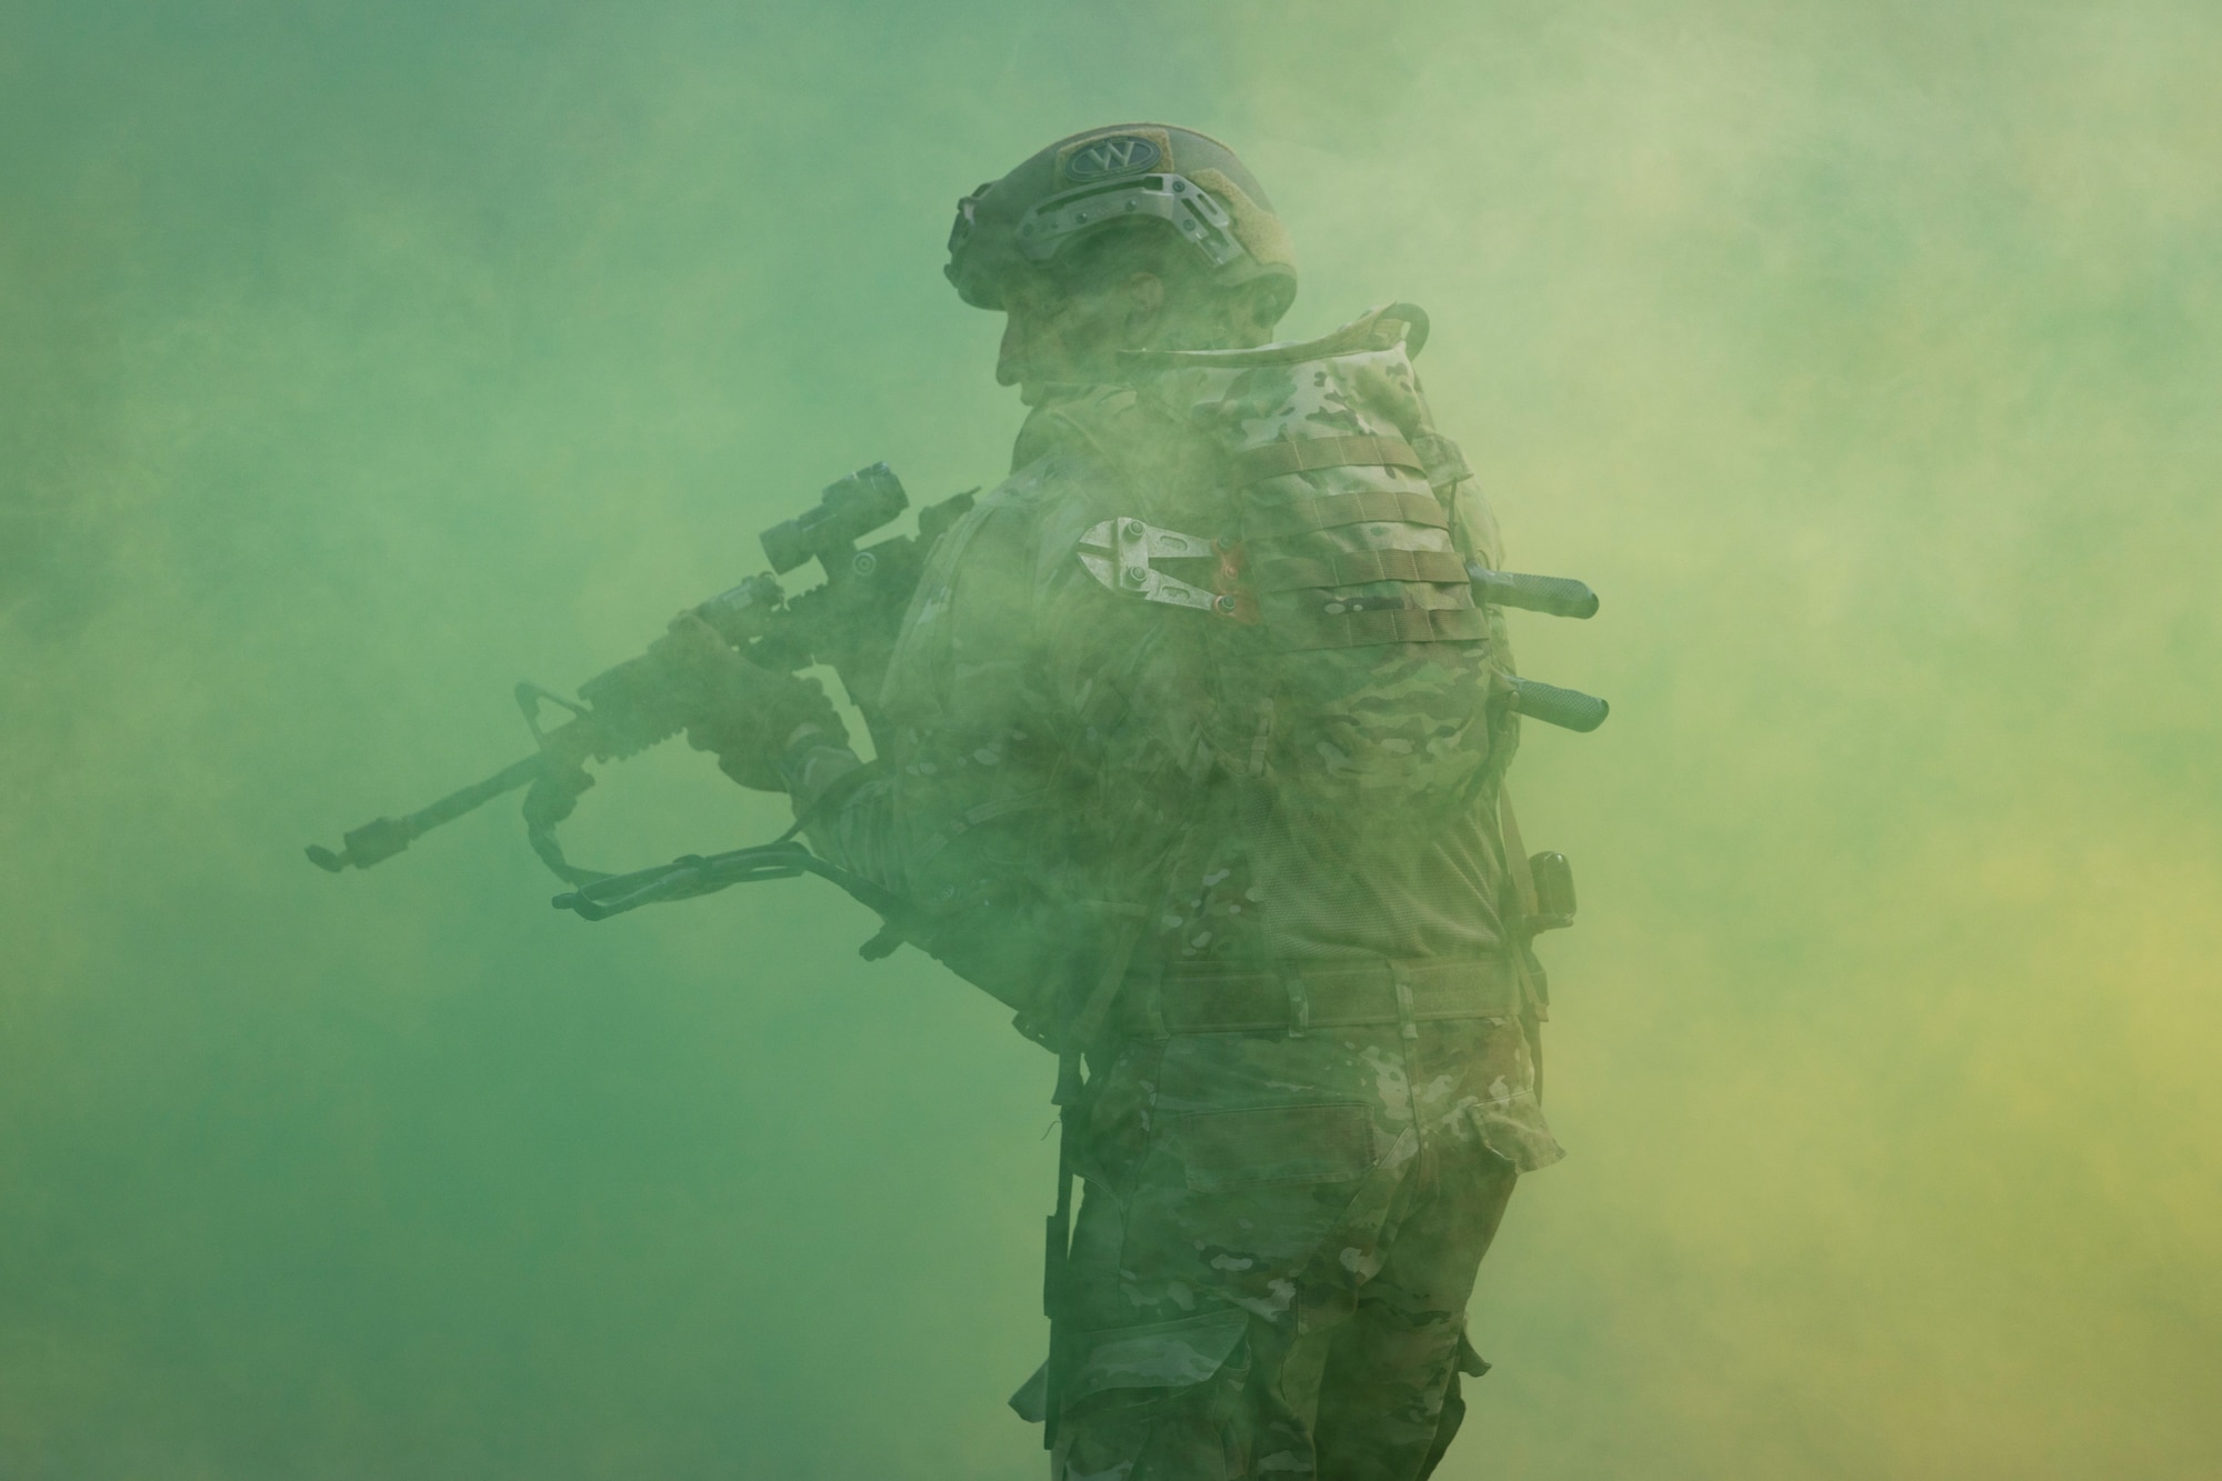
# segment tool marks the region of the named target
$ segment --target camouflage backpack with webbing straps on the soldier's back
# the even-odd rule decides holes
[[[1335,807],[1424,798],[1435,809],[1473,796],[1493,765],[1491,736],[1507,752],[1511,738],[1491,683],[1500,660],[1464,578],[1473,540],[1453,527],[1424,467],[1242,474],[1260,451],[1427,445],[1433,420],[1407,331],[1404,318],[1373,311],[1311,345],[1131,356],[1140,396],[1202,443],[1191,478],[1209,491],[1193,503],[1220,505],[1204,518],[1235,525],[1258,589],[1258,627],[1215,634],[1224,727],[1258,725],[1222,736],[1222,747],[1251,740],[1255,776]],[[1404,518],[1387,516],[1395,509]],[[1429,578],[1360,578],[1393,565]],[[1384,640],[1380,614],[1429,614],[1449,640]]]

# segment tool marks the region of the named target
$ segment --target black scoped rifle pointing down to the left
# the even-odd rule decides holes
[[[920,509],[915,536],[858,549],[858,540],[893,523],[911,503],[884,463],[862,467],[829,485],[811,509],[760,536],[769,571],[720,592],[693,614],[767,669],[793,674],[813,663],[831,665],[862,712],[873,747],[884,752],[878,694],[902,612],[918,589],[927,551],[971,509],[973,494],[978,489]],[[824,583],[789,598],[778,578],[809,560],[824,569]],[[609,878],[567,861],[556,838],[556,827],[593,785],[587,763],[624,761],[669,740],[700,718],[702,696],[651,647],[589,678],[578,700],[533,683],[520,683],[516,700],[533,734],[531,756],[400,818],[373,818],[351,829],[338,852],[311,843],[309,863],[331,874],[349,865],[369,869],[431,829],[524,787],[524,834],[540,861],[575,887]],[[571,718],[542,727],[542,705],[567,709]]]

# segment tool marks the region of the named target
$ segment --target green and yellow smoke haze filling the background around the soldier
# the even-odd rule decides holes
[[[1515,569],[1549,1107],[1442,1474],[2222,1470],[2222,11],[0,13],[0,1474],[1038,1474],[1051,1065],[795,881],[587,925],[571,687],[889,458],[958,193],[1231,140]],[[664,747],[573,854],[778,832]]]

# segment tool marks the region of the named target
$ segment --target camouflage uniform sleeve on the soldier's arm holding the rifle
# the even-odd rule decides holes
[[[1033,1038],[1087,956],[1095,894],[1073,747],[1102,634],[1060,569],[1084,474],[1047,456],[935,547],[882,689],[873,776],[855,781],[860,758],[822,740],[782,765],[811,845],[909,901],[909,941]]]

